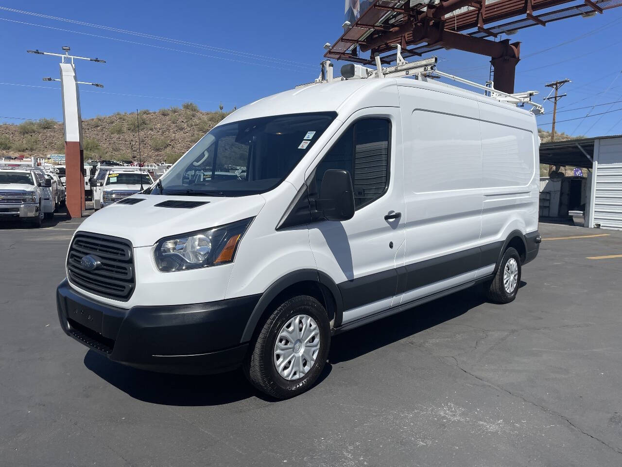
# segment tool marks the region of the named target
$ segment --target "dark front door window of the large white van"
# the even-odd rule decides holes
[[[366,118],[350,126],[318,164],[317,189],[328,169],[345,169],[353,175],[357,208],[381,197],[389,178],[390,134],[391,122],[384,118]]]

